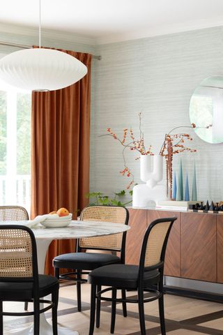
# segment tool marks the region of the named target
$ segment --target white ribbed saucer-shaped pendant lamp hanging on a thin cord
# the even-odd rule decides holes
[[[87,68],[81,61],[65,52],[41,48],[40,42],[41,15],[39,47],[12,52],[0,59],[0,79],[20,89],[54,91],[75,84],[86,75]]]

